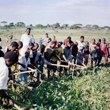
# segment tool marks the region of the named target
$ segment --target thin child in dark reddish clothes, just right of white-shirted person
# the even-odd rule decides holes
[[[85,49],[84,49],[84,64],[88,64],[88,59],[89,59],[89,42],[85,42]]]

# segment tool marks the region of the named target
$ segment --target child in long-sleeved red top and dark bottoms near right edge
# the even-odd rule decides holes
[[[100,64],[100,62],[102,60],[102,57],[104,57],[104,60],[105,60],[104,63],[106,64],[108,51],[107,51],[107,44],[106,44],[106,39],[105,38],[102,39],[102,43],[100,44],[100,47],[99,47],[99,52],[100,52],[101,57],[98,61],[98,65]]]

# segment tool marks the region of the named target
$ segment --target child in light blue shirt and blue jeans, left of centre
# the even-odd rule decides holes
[[[21,65],[19,66],[20,72],[27,71],[28,70],[27,67],[30,65],[29,51],[25,52],[25,56],[21,57],[19,62],[21,64],[25,65],[24,67]],[[24,77],[24,83],[27,85],[27,80],[28,80],[28,74],[27,73],[20,74],[17,82],[20,82],[23,77]]]

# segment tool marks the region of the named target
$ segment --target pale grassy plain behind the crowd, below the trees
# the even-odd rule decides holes
[[[3,40],[3,46],[6,46],[6,38],[9,38],[10,35],[14,36],[14,41],[19,41],[21,39],[22,34],[25,33],[25,28],[21,29],[0,29],[0,37]],[[46,29],[33,29],[31,34],[34,36],[36,42],[39,41],[40,38],[45,36],[45,33],[49,34],[49,37],[56,36],[56,39],[59,41],[63,41],[68,36],[72,37],[73,41],[79,40],[81,35],[85,36],[85,41],[91,42],[92,38],[95,38],[96,41],[99,38],[106,38],[107,43],[110,42],[110,30],[85,30],[85,29],[77,29],[77,30],[46,30]]]

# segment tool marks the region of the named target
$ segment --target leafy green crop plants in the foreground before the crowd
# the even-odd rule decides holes
[[[109,110],[110,67],[102,65],[79,70],[80,77],[73,71],[71,69],[68,76],[62,74],[61,79],[57,77],[58,81],[44,81],[34,88],[34,93],[29,94],[24,88],[17,88],[13,92],[26,95],[23,103],[36,110]],[[22,102],[17,96],[12,95],[12,98]]]

